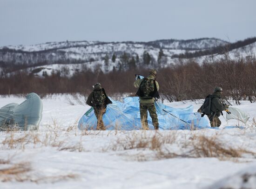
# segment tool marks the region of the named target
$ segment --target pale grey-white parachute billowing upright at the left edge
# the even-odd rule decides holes
[[[21,104],[11,103],[0,108],[0,130],[36,130],[42,111],[41,98],[34,92],[29,93]]]

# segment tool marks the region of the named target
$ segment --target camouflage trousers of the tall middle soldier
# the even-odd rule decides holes
[[[158,130],[158,118],[155,110],[155,103],[140,103],[140,113],[141,113],[141,126],[142,129],[148,130],[148,111],[152,118],[152,123],[155,130]]]

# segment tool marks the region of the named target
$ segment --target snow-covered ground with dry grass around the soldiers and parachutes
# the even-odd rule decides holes
[[[80,131],[79,99],[43,99],[39,130],[0,132],[0,189],[256,188],[255,103],[235,106],[246,125],[220,117],[219,130]],[[0,107],[22,101],[0,97]],[[202,101],[168,105],[189,104]],[[246,129],[223,129],[235,125]]]

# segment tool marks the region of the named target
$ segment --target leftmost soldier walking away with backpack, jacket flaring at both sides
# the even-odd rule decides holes
[[[86,104],[94,108],[94,114],[97,117],[97,130],[106,130],[102,117],[106,112],[107,104],[112,104],[106,95],[105,90],[100,83],[94,85],[94,90],[88,96]]]

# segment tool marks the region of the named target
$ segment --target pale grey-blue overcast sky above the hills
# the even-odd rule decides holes
[[[0,46],[256,36],[256,0],[0,0]]]

